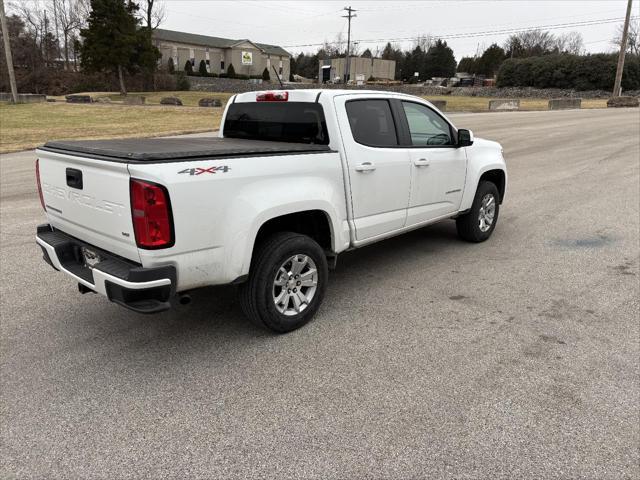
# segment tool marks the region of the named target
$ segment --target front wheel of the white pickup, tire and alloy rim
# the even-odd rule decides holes
[[[500,212],[498,188],[492,182],[480,182],[471,210],[456,218],[458,236],[467,242],[484,242],[493,233]]]

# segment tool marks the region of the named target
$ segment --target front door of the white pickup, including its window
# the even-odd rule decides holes
[[[407,226],[455,213],[460,208],[467,155],[457,148],[452,127],[427,105],[402,101],[411,137],[411,196]]]

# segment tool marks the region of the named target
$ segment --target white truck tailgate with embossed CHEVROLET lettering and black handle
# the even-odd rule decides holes
[[[127,164],[43,150],[36,153],[51,225],[96,247],[139,262]]]

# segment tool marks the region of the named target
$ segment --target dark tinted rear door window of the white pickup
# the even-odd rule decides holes
[[[356,142],[371,147],[398,145],[396,126],[387,100],[351,100],[347,116]]]

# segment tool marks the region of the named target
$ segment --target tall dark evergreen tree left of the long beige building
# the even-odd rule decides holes
[[[131,0],[91,0],[87,28],[80,31],[80,59],[87,72],[117,72],[120,93],[127,94],[124,72],[153,69],[158,49],[138,28],[138,6]]]

